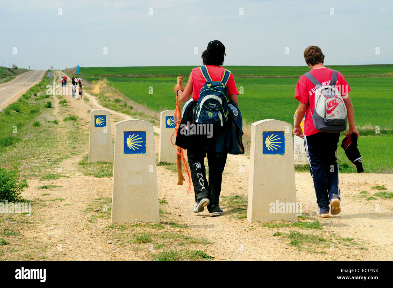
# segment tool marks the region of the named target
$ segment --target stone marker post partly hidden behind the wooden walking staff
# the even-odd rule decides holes
[[[160,148],[158,150],[158,162],[176,162],[174,147],[169,139],[173,134],[176,122],[174,121],[174,110],[165,110],[160,114]],[[173,143],[176,141],[176,135],[173,135]]]

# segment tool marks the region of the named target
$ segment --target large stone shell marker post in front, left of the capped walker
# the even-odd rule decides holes
[[[153,125],[124,120],[115,130],[112,224],[159,223]]]

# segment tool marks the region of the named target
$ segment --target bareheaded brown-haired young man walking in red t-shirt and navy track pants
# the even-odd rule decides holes
[[[328,85],[336,79],[335,87],[342,95],[347,110],[348,133],[349,135],[356,134],[359,137],[359,132],[355,128],[354,110],[348,94],[351,89],[343,75],[340,72],[335,72],[323,66],[325,55],[323,55],[318,46],[307,47],[304,51],[304,59],[311,70],[309,72],[310,74],[302,75],[296,84],[295,98],[299,101],[299,108],[296,112],[293,134],[304,138],[304,145],[319,208],[318,215],[326,218],[329,217],[329,211],[332,215],[337,215],[341,212],[341,196],[340,188],[338,187],[338,163],[336,162],[340,132],[321,132],[315,128],[313,114],[316,103],[314,97],[315,93],[321,87],[313,84],[310,79],[314,83],[320,82],[322,85]],[[337,101],[332,105],[328,103],[325,113],[332,114],[342,111],[335,110],[338,109],[338,104],[336,104]],[[303,135],[300,123],[304,114],[306,114],[306,117]],[[329,204],[331,208],[329,208]]]

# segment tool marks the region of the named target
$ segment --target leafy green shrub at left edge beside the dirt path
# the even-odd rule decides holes
[[[15,202],[23,192],[23,188],[29,187],[26,179],[19,181],[18,178],[19,172],[16,165],[8,171],[6,168],[0,168],[0,200]]]

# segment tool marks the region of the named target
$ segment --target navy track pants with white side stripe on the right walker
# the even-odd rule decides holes
[[[337,143],[340,133],[318,132],[304,137],[304,146],[314,182],[319,213],[329,212],[332,198],[340,199]]]

